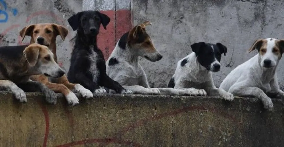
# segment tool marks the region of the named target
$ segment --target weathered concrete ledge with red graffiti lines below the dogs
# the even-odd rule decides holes
[[[80,95],[77,95],[80,96]],[[96,95],[68,106],[0,92],[0,146],[284,146],[283,101],[256,98]]]

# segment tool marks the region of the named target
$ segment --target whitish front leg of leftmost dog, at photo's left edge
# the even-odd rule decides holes
[[[0,87],[5,88],[7,90],[11,90],[15,98],[20,102],[27,102],[27,96],[25,92],[12,81],[0,80]]]

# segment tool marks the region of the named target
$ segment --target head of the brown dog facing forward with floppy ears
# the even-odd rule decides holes
[[[68,29],[54,23],[38,23],[24,27],[20,32],[24,40],[25,36],[31,36],[31,43],[38,43],[49,47],[55,45],[56,36],[60,35],[62,40],[68,35]]]

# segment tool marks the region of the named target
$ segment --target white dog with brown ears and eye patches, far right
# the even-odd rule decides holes
[[[234,96],[259,98],[265,109],[273,110],[269,96],[284,97],[279,89],[276,68],[284,51],[284,40],[274,38],[256,40],[248,52],[257,49],[258,54],[238,65],[221,83],[220,88]]]

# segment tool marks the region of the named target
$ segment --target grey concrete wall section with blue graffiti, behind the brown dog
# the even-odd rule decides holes
[[[7,6],[6,9],[3,4]],[[0,46],[29,43],[29,36],[23,41],[19,37],[19,31],[26,25],[57,23],[67,27],[69,34],[65,41],[60,36],[56,38],[56,41],[58,63],[64,70],[69,69],[72,51],[70,39],[75,32],[68,25],[67,19],[82,11],[82,0],[0,0],[0,10],[2,11],[0,12]]]

